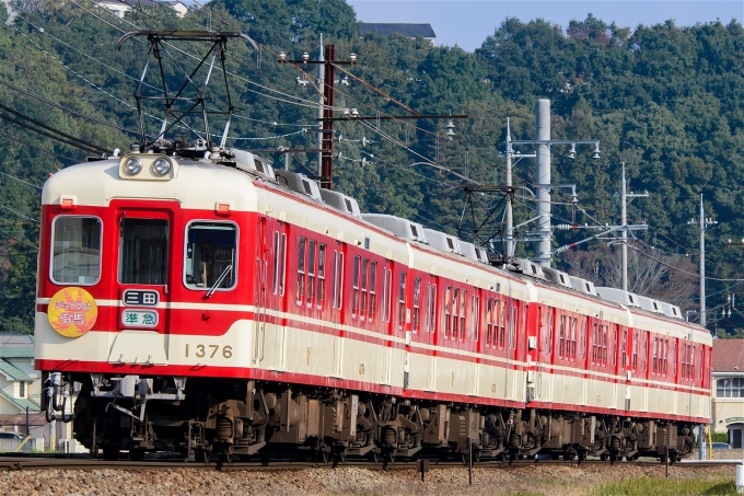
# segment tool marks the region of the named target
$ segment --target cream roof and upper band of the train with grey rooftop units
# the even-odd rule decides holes
[[[679,327],[707,333],[704,327],[682,322],[679,308],[671,303],[617,288],[594,288],[586,279],[540,267],[527,259],[516,258],[502,268],[492,266],[480,246],[399,217],[361,214],[353,198],[340,192],[319,189],[317,183],[303,174],[275,171],[268,160],[246,151],[231,149],[228,154],[226,161],[224,157],[219,160],[168,157],[173,166],[167,177],[156,177],[148,169],[163,157],[160,154],[136,153],[72,165],[46,182],[42,201],[54,205],[60,204],[62,198],[72,198],[74,204],[107,206],[116,198],[173,199],[183,208],[213,209],[217,199],[235,210],[272,211],[276,199],[268,196],[279,195],[316,210],[309,215],[306,208],[280,208],[272,214],[280,220],[363,245],[396,262],[411,264],[415,261],[416,268],[455,281],[515,298],[532,297],[535,301],[586,315],[597,314],[596,303],[601,302],[603,318],[618,324],[653,325],[651,321],[662,319],[676,322]],[[137,157],[144,163],[142,177],[128,177],[123,172],[125,159],[129,157]],[[82,182],[81,176],[86,181]],[[97,177],[95,181],[88,181],[94,176]],[[175,178],[178,181],[171,181]],[[409,256],[410,250],[418,255]],[[442,264],[442,257],[458,264]]]

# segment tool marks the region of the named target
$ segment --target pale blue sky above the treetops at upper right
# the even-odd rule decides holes
[[[429,23],[437,33],[437,45],[457,45],[468,51],[505,18],[522,21],[543,18],[566,28],[571,20],[594,14],[607,24],[636,27],[670,19],[679,26],[720,20],[744,20],[744,0],[347,0],[362,22]]]

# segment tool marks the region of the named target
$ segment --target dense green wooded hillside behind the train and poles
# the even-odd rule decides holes
[[[237,117],[230,135],[240,139],[230,145],[315,148],[315,134],[303,129],[316,125],[317,94],[311,84],[298,84],[303,74],[278,65],[276,54],[283,50],[288,58],[300,58],[309,51],[315,57],[323,33],[325,43],[336,45],[339,59],[357,54],[353,74],[393,99],[422,114],[469,115],[455,122],[452,140],[444,136],[446,120],[337,126],[342,139],[335,146],[341,152],[336,188],[358,198],[363,210],[409,217],[451,232],[463,197],[445,192],[463,184],[463,177],[503,184],[499,152],[504,150],[507,117],[512,139],[534,139],[535,101],[550,99],[554,139],[602,142],[598,160],[592,159],[591,148],[579,147],[571,160],[568,148],[554,147],[554,183],[576,183],[579,195],[578,206],[572,206],[569,191],[556,191],[554,223],[618,223],[614,194],[625,162],[628,189],[650,194],[629,208],[632,222],[651,227],[632,242],[631,289],[683,309],[697,305],[698,231],[687,222],[697,218],[700,194],[706,216],[719,221],[707,234],[709,307],[724,304],[730,292],[743,287],[731,279],[744,279],[744,257],[725,244],[744,237],[744,32],[737,22],[691,27],[667,22],[631,30],[590,15],[561,30],[544,20],[508,19],[470,54],[402,36],[361,38],[353,10],[341,0],[213,0],[210,10],[195,4],[183,19],[162,7],[118,19],[90,0],[19,0],[13,5],[11,15],[0,3],[0,104],[111,150],[128,149],[137,136],[69,111],[138,128],[132,94],[147,51],[136,43],[116,51],[121,34],[208,27],[240,28],[263,45],[258,53],[245,44],[229,46],[229,69],[243,78],[231,81]],[[337,89],[336,105],[358,108],[360,115],[406,113],[353,79]],[[214,93],[213,104],[223,105],[223,96]],[[5,143],[0,154],[0,330],[32,332],[39,187],[48,174],[92,153],[4,119],[27,124],[8,109],[0,107],[0,115]],[[146,124],[152,131],[160,127],[154,117]],[[362,138],[373,142],[363,146]],[[410,165],[420,162],[439,168]],[[306,174],[317,171],[315,157],[298,155],[291,168]],[[515,184],[531,187],[534,161],[522,159],[514,171]],[[528,195],[520,195],[516,223],[533,212]],[[555,246],[594,233],[557,231]],[[556,263],[597,284],[616,282],[619,255],[608,241],[580,245]],[[531,244],[520,243],[518,253],[528,256]],[[744,328],[744,314],[736,310],[724,320],[712,316],[711,328]]]

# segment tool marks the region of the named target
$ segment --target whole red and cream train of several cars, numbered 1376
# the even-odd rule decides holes
[[[492,266],[244,151],[163,151],[44,187],[44,408],[107,458],[675,460],[708,423],[711,337],[674,307]]]

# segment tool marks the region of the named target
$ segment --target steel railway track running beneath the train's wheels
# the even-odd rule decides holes
[[[13,453],[15,454],[15,453]],[[721,466],[726,464],[742,463],[741,460],[705,460],[705,461],[684,461],[676,463],[674,466],[695,470],[696,468]],[[601,460],[514,460],[514,461],[483,461],[473,465],[474,469],[491,469],[491,470],[510,470],[518,468],[528,468],[532,465],[573,465],[577,468],[583,465],[602,465],[613,464]],[[614,462],[616,465],[648,465],[659,466],[659,461],[653,460],[636,460],[625,462]],[[183,460],[143,460],[132,462],[129,460],[119,461],[104,461],[102,459],[91,457],[50,457],[50,455],[25,455],[25,457],[3,457],[0,454],[0,472],[3,471],[25,471],[25,470],[119,470],[119,471],[156,471],[156,470],[202,470],[202,471],[291,471],[303,469],[326,469],[333,470],[336,468],[362,468],[368,470],[416,470],[416,461],[403,461],[396,463],[374,463],[370,461],[347,460],[342,463],[319,463],[319,462],[301,462],[301,461],[274,461],[268,464],[255,462],[217,462],[210,463],[186,462]],[[430,470],[437,469],[453,469],[463,468],[467,465],[463,462],[456,461],[437,461],[431,460],[429,464]]]

